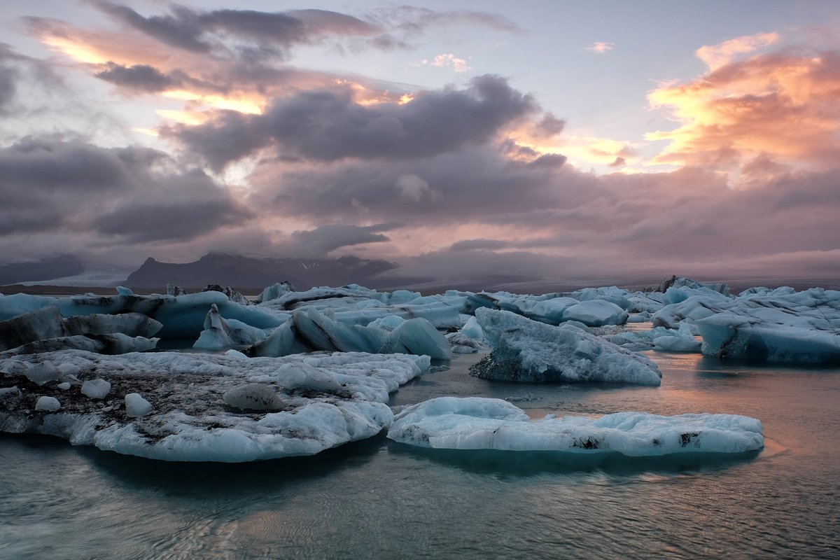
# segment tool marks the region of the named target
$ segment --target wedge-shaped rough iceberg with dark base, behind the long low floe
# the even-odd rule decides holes
[[[492,352],[470,368],[483,379],[609,381],[659,385],[649,359],[572,326],[554,327],[509,311],[478,309]]]

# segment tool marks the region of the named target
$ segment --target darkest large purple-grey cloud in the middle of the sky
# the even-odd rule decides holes
[[[277,100],[262,115],[229,113],[219,122],[172,127],[164,135],[181,139],[217,169],[272,143],[281,155],[307,160],[410,160],[485,144],[538,111],[532,97],[503,78],[479,76],[465,90],[420,92],[402,105],[363,106],[347,90],[302,92]]]

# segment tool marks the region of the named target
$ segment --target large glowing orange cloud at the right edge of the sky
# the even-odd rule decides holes
[[[776,37],[763,34],[704,47],[698,55],[709,72],[648,94],[651,107],[668,110],[680,123],[646,135],[669,142],[654,164],[703,165],[733,176],[757,159],[811,170],[837,165],[840,53],[788,49],[732,60]]]

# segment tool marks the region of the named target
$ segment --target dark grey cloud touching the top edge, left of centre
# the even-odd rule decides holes
[[[375,24],[318,9],[286,13],[235,9],[204,12],[169,4],[170,13],[145,17],[132,8],[105,0],[94,4],[103,13],[172,47],[197,53],[233,54],[244,60],[286,58],[294,45],[330,38],[386,36]],[[384,40],[388,42],[387,36]]]

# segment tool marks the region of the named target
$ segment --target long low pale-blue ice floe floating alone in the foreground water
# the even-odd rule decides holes
[[[409,406],[388,437],[419,447],[622,453],[744,453],[764,447],[759,420],[731,414],[657,416],[618,412],[601,418],[546,416],[531,421],[505,400],[440,397]]]

